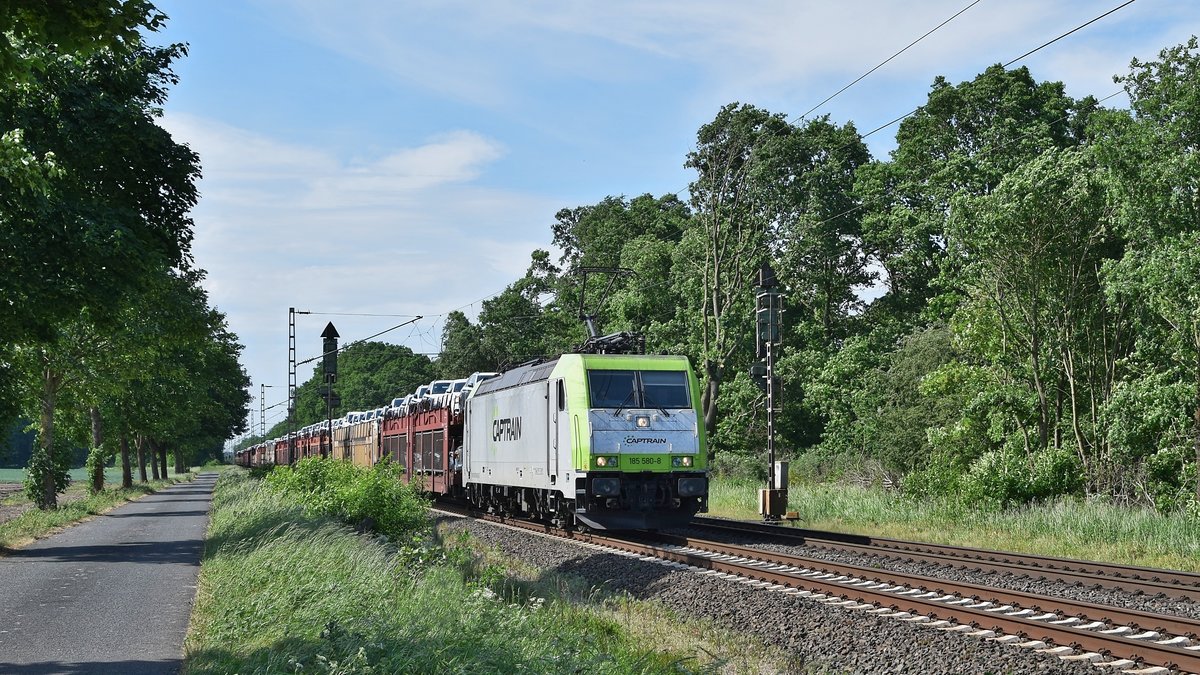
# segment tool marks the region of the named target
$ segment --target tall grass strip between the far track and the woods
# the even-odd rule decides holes
[[[757,520],[758,488],[715,478],[709,514]],[[788,509],[797,526],[816,530],[1200,572],[1200,527],[1182,513],[1090,500],[988,509],[833,484],[793,484]]]

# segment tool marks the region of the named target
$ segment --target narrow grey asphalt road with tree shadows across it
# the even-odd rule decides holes
[[[215,473],[0,557],[0,674],[176,673]]]

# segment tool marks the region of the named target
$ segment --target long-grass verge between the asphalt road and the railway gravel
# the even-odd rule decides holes
[[[689,658],[602,613],[473,577],[464,550],[426,542],[359,534],[223,474],[184,671],[678,673]]]

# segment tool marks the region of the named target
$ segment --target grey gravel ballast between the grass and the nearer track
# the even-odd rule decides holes
[[[580,578],[613,595],[655,601],[683,617],[704,616],[750,633],[806,664],[803,673],[1102,673],[1033,650],[833,608],[478,520],[448,518],[444,522],[528,566]]]

